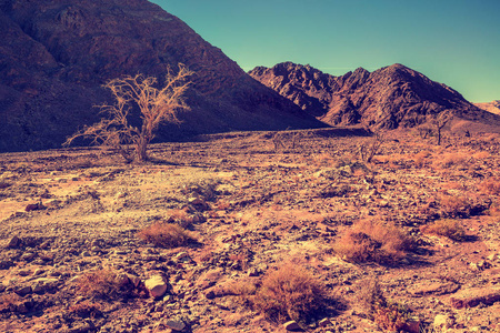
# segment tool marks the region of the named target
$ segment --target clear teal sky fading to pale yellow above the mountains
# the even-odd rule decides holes
[[[500,100],[500,0],[153,0],[246,71],[333,75],[402,63],[471,102]]]

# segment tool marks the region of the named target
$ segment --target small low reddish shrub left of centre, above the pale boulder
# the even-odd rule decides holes
[[[163,222],[156,222],[142,229],[137,235],[154,246],[166,249],[183,246],[196,241],[191,233],[179,224]]]

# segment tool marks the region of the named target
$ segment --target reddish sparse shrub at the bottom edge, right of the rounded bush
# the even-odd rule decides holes
[[[371,279],[362,283],[358,296],[368,316],[382,330],[399,332],[407,327],[410,311],[397,302],[388,301],[377,280]]]

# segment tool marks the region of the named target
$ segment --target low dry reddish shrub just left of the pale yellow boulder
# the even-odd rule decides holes
[[[78,279],[77,284],[79,293],[106,301],[142,296],[144,293],[141,284],[110,269],[88,272]]]

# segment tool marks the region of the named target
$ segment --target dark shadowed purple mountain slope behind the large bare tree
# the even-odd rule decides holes
[[[196,72],[180,127],[158,140],[230,130],[317,128],[177,17],[146,0],[0,0],[0,151],[59,148],[99,118],[102,84],[126,74]]]

